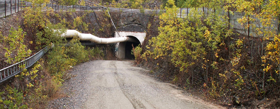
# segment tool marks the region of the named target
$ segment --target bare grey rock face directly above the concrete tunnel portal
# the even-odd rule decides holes
[[[150,15],[136,13],[136,12],[127,12],[119,15],[119,20],[117,21],[118,27],[124,27],[128,25],[142,26],[146,29]],[[141,28],[142,28],[141,27]]]

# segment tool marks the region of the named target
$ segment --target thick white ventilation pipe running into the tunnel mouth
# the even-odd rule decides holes
[[[90,40],[92,42],[95,42],[97,44],[110,44],[110,43],[117,43],[117,42],[125,42],[125,41],[130,41],[130,42],[137,42],[137,40],[134,40],[133,38],[130,37],[113,37],[113,38],[99,38],[96,36],[93,36],[91,34],[83,34],[80,33],[76,30],[67,30],[65,33],[61,35],[62,37],[65,38],[70,38],[70,37],[79,37],[80,40]]]

